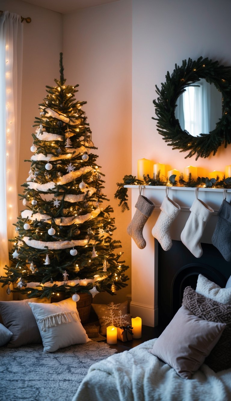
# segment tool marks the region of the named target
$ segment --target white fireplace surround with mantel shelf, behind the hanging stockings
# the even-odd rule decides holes
[[[136,212],[136,202],[139,196],[139,185],[125,185],[125,188],[132,189],[132,217]],[[156,326],[158,323],[158,250],[152,236],[152,227],[155,225],[160,213],[160,205],[168,194],[172,201],[180,206],[180,213],[170,227],[170,236],[180,241],[180,234],[190,215],[190,207],[195,200],[195,189],[183,186],[150,186],[142,185],[141,194],[146,196],[155,204],[154,212],[148,218],[143,229],[143,236],[146,240],[146,247],[139,249],[132,241],[132,301],[130,304],[131,314],[140,316],[142,323],[147,326]],[[213,208],[214,213],[207,222],[202,243],[211,243],[211,238],[217,223],[217,212],[223,202],[223,191],[227,191],[227,201],[231,201],[231,189],[225,188],[204,188],[199,187],[198,199]],[[167,192],[166,192],[167,191]]]

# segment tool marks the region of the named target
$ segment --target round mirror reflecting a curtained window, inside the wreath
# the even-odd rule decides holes
[[[221,92],[205,79],[186,87],[177,105],[175,115],[180,127],[192,136],[208,134],[214,130],[222,115]]]

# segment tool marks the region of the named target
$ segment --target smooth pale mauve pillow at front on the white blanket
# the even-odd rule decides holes
[[[224,328],[225,324],[207,322],[182,306],[150,352],[168,363],[183,379],[191,379],[217,344]]]

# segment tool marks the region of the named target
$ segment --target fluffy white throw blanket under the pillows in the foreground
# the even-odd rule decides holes
[[[91,365],[72,401],[229,401],[231,369],[215,373],[207,365],[192,379],[149,352],[149,340]]]

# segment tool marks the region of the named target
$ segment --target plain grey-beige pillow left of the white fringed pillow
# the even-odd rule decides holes
[[[28,302],[38,302],[38,298],[22,301],[0,301],[0,314],[4,326],[13,334],[9,348],[31,343],[41,343],[41,335]]]

